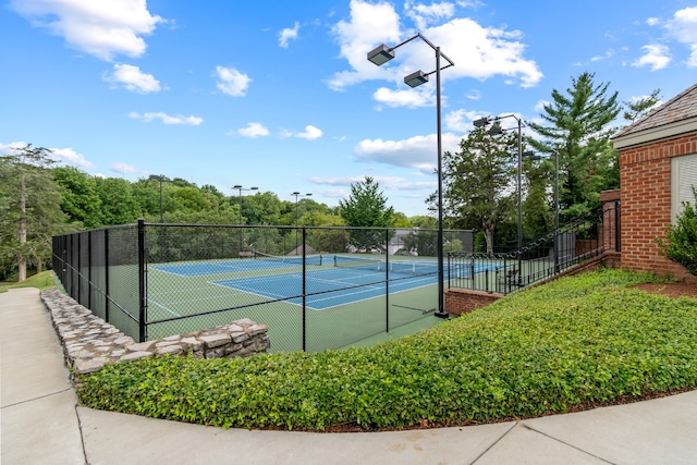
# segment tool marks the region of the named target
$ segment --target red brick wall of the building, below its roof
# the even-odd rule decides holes
[[[620,152],[622,186],[622,266],[694,280],[687,270],[662,257],[656,237],[671,222],[671,158],[697,152],[697,134],[658,140]]]

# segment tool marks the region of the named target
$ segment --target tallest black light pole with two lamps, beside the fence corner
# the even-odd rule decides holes
[[[440,51],[440,47],[435,46],[424,37],[421,34],[417,34],[408,39],[395,45],[394,47],[388,47],[384,44],[372,49],[368,52],[368,61],[377,64],[378,66],[392,60],[395,54],[394,50],[403,45],[411,42],[415,38],[420,38],[436,52],[436,70],[430,73],[424,73],[418,70],[408,76],[404,77],[404,84],[409,87],[417,87],[428,82],[428,76],[436,73],[436,125],[437,125],[437,138],[438,138],[438,308],[436,316],[439,318],[448,318],[448,313],[444,308],[443,302],[443,170],[442,170],[442,137],[441,137],[441,123],[440,123],[440,71],[450,66],[454,66],[455,63]],[[444,58],[449,64],[441,68],[440,59]]]

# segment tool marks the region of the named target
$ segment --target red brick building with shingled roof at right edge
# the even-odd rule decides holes
[[[613,137],[620,150],[622,266],[694,280],[660,254],[683,201],[697,186],[697,84]]]

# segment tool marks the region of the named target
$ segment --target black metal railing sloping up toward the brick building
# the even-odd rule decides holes
[[[448,254],[449,287],[510,294],[607,250],[620,252],[620,203],[611,203],[510,253]],[[452,272],[455,270],[456,272]]]

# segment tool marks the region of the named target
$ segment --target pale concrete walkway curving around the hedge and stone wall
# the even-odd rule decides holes
[[[697,464],[697,391],[464,428],[222,430],[76,406],[35,289],[0,294],[0,335],[3,465]]]

